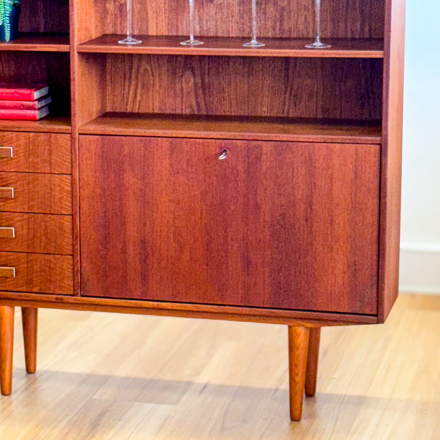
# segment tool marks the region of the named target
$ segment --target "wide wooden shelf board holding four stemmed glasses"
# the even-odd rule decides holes
[[[326,39],[331,43],[328,49],[308,49],[310,39],[261,38],[266,45],[259,48],[245,48],[246,38],[201,37],[204,44],[184,46],[181,41],[187,37],[136,36],[140,44],[124,45],[118,40],[123,35],[105,34],[77,46],[78,52],[132,53],[161,55],[229,55],[229,56],[278,56],[318,58],[383,58],[383,40],[375,39]]]

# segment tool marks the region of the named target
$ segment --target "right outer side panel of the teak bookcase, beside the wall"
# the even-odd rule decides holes
[[[405,0],[387,0],[385,20],[384,143],[381,158],[379,316],[384,322],[399,291]]]

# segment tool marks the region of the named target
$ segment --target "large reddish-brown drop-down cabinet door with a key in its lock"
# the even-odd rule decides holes
[[[80,136],[81,295],[377,313],[380,146]]]

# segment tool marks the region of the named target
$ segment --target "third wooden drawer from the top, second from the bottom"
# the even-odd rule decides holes
[[[72,216],[0,212],[0,251],[72,255]]]

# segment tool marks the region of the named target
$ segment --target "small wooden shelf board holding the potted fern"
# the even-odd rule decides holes
[[[67,33],[20,33],[16,40],[0,41],[0,51],[70,51]]]

